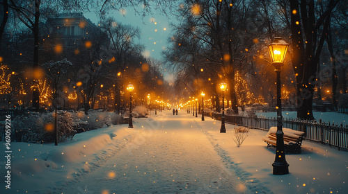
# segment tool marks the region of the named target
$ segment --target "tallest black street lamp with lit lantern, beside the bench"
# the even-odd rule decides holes
[[[281,102],[281,85],[280,85],[280,71],[284,64],[284,59],[289,44],[280,37],[275,37],[274,42],[269,44],[269,53],[271,55],[272,64],[274,65],[277,74],[277,142],[276,142],[276,159],[274,160],[273,174],[274,175],[286,175],[289,174],[289,164],[285,160],[284,150],[284,133],[283,133],[283,116],[282,116],[282,102]]]

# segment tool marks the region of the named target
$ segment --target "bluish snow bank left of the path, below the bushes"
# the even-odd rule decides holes
[[[125,148],[135,134],[119,125],[76,134],[72,141],[58,146],[13,142],[12,184],[18,193],[52,193],[66,184],[66,179],[77,182],[81,175],[102,165]],[[1,175],[3,164],[1,158]]]

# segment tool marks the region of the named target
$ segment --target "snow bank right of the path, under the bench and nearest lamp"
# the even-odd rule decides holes
[[[235,170],[251,191],[284,194],[348,193],[347,152],[303,141],[301,154],[285,155],[290,164],[290,174],[273,175],[271,164],[274,163],[276,149],[267,148],[261,139],[267,132],[249,130],[248,137],[237,148],[232,141],[237,126],[226,124],[226,134],[221,134],[216,128],[219,123],[206,120],[205,134],[221,159],[231,170]]]

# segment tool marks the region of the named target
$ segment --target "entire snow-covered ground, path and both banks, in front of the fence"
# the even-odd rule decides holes
[[[135,118],[133,129],[114,125],[58,146],[12,143],[11,188],[0,157],[0,193],[348,193],[348,152],[303,141],[301,154],[286,155],[290,174],[272,175],[267,132],[250,130],[237,148],[236,126],[226,124],[226,134],[220,127],[161,112]]]

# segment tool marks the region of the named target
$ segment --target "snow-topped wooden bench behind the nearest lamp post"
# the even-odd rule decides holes
[[[276,147],[277,144],[277,127],[271,127],[266,134],[262,137],[262,140],[269,146]],[[304,132],[292,130],[289,128],[283,128],[284,132],[284,149],[285,153],[301,153],[301,145],[303,141]]]

